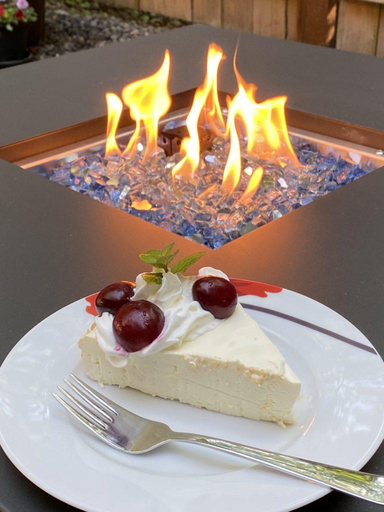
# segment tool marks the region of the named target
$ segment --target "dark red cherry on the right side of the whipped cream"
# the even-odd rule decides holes
[[[228,280],[216,275],[205,275],[192,287],[194,301],[215,318],[228,318],[236,308],[238,294]]]

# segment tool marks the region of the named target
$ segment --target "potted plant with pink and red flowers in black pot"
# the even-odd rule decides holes
[[[0,0],[0,62],[24,60],[28,56],[29,22],[37,19],[27,0]]]

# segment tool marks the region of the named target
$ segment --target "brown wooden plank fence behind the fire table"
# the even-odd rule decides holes
[[[384,56],[384,0],[112,1],[196,23]]]

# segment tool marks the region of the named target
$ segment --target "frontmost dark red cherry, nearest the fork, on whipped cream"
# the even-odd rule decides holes
[[[113,319],[117,343],[127,352],[137,352],[150,345],[161,333],[164,313],[150,301],[127,302]]]

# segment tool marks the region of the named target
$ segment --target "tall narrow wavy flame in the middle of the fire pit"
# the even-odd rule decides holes
[[[186,126],[189,137],[185,137],[180,145],[180,152],[184,158],[172,170],[173,178],[183,178],[190,180],[193,178],[195,170],[200,162],[200,138],[198,132],[198,122],[202,110],[206,107],[206,113],[210,123],[216,127],[224,127],[223,116],[220,109],[217,92],[217,74],[223,51],[215,44],[210,44],[207,55],[207,71],[204,83],[200,86],[194,97],[193,104],[186,118]]]

